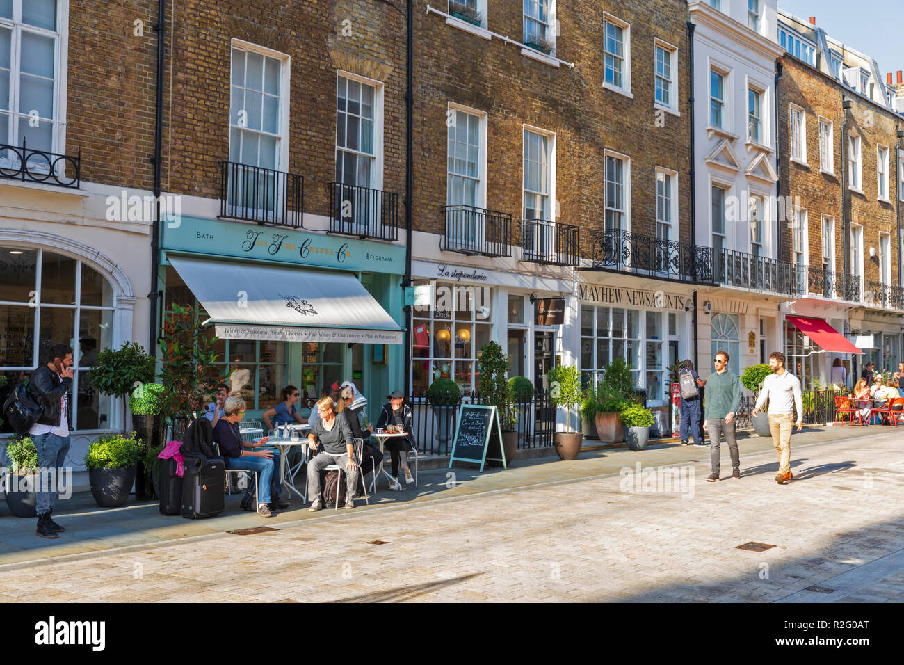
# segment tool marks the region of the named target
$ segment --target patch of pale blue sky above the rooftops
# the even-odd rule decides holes
[[[852,49],[879,62],[885,74],[904,70],[901,14],[904,0],[778,0],[779,9],[816,25]]]

